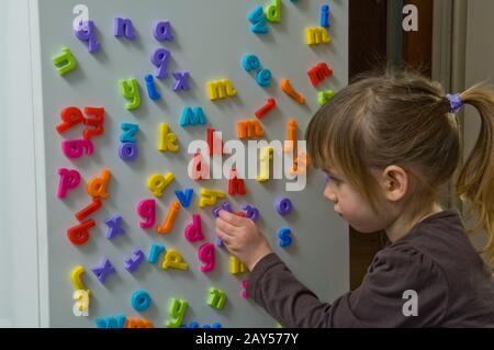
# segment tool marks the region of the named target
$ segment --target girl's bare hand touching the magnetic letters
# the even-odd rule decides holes
[[[252,271],[256,263],[272,252],[266,237],[250,218],[221,211],[216,233],[229,252]]]

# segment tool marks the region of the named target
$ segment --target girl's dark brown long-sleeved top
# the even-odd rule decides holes
[[[405,305],[409,290],[417,316]],[[360,287],[333,304],[274,253],[256,264],[247,294],[284,327],[494,327],[494,280],[454,210],[425,218],[379,251]]]

